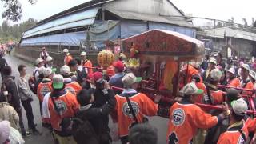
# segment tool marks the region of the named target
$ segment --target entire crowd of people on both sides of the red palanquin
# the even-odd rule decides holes
[[[17,82],[12,68],[0,58],[0,144],[24,143],[22,137],[31,133],[42,135],[34,122],[34,94],[38,96],[42,126],[51,131],[56,143],[108,144],[117,139],[122,144],[158,143],[158,132],[148,117],[158,114],[161,96],[152,100],[138,92],[142,78],[126,70],[122,59],[113,62],[110,67],[114,70],[109,73],[110,69],[94,69],[85,51],[79,58],[73,58],[67,49],[63,54],[63,66],[58,70],[54,58],[43,47],[29,79],[26,66],[18,66]],[[202,63],[182,64],[178,74],[179,93],[169,110],[166,143],[255,141],[256,119],[247,110],[255,110],[250,96],[254,94],[256,74],[248,64],[226,66],[218,54],[206,57]],[[29,130],[23,124],[20,103],[26,111]],[[222,109],[202,109],[196,103]],[[117,131],[110,130],[109,115]]]

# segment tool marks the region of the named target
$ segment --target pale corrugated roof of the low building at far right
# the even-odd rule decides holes
[[[234,30],[230,27],[221,27],[217,29],[204,30],[204,33],[206,36],[214,38],[224,38],[226,36],[230,38],[241,38],[250,41],[256,41],[256,34],[248,31]]]

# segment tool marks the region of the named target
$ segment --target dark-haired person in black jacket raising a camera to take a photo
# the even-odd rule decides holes
[[[114,91],[110,90],[110,86],[107,82],[104,83],[104,95],[102,95],[106,102],[102,106],[96,107],[94,103],[94,90],[81,90],[77,95],[77,100],[81,105],[78,111],[77,117],[81,119],[88,119],[92,124],[96,136],[90,138],[92,144],[109,144],[110,143],[110,130],[108,127],[108,114],[116,105],[116,100],[114,98]],[[83,138],[81,138],[83,139]],[[78,142],[85,143],[84,141]]]

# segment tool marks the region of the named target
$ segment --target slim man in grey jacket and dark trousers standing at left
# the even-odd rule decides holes
[[[30,87],[28,86],[28,82],[25,79],[26,76],[26,66],[19,65],[18,72],[20,77],[17,81],[18,94],[21,98],[22,106],[26,110],[26,118],[28,122],[29,128],[32,130],[33,134],[42,134],[36,129],[36,125],[34,124],[34,115],[31,106],[31,102],[33,101],[32,93],[30,92]]]

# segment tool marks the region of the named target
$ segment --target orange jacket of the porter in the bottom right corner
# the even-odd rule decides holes
[[[242,134],[238,131],[239,128],[229,128],[225,133],[221,134],[218,138],[218,144],[233,144],[233,143],[245,143],[242,138]],[[246,122],[243,121],[242,132],[248,138],[249,132],[256,130],[256,119],[250,119]]]

